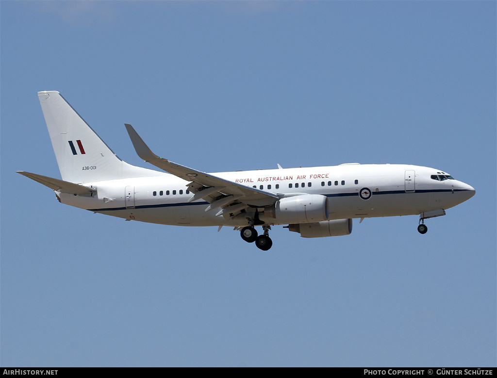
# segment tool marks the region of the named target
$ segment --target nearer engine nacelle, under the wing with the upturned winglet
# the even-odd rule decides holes
[[[329,216],[328,197],[320,194],[302,194],[282,198],[264,216],[275,218],[278,223],[314,223],[326,221]]]

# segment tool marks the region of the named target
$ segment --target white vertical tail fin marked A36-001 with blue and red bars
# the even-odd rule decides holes
[[[64,181],[85,183],[161,174],[117,157],[59,92],[38,92],[38,98]]]

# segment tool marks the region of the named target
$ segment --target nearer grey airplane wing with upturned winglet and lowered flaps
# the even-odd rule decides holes
[[[206,211],[221,207],[227,210],[224,212],[221,211],[218,215],[221,213],[224,215],[229,214],[229,210],[233,210],[233,213],[235,213],[247,206],[269,206],[280,198],[274,193],[249,188],[248,186],[159,157],[149,149],[130,124],[125,124],[125,126],[138,156],[168,173],[190,181],[188,187],[195,194],[189,201],[196,201],[198,199],[206,200],[211,204]],[[245,204],[246,206],[243,207],[241,204]]]

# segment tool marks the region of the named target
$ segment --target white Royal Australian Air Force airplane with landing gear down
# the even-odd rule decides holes
[[[274,225],[302,237],[348,235],[352,218],[445,215],[475,194],[449,174],[405,164],[205,173],[154,154],[131,125],[136,152],[168,172],[130,165],[112,152],[57,91],[38,92],[62,180],[18,171],[67,205],[127,221],[175,226],[232,226],[268,250]],[[262,226],[257,235],[255,226]]]

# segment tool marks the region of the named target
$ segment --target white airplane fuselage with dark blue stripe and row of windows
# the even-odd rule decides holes
[[[329,220],[418,215],[448,209],[470,198],[474,189],[433,168],[404,164],[342,164],[337,166],[220,172],[214,175],[284,197],[318,194],[329,199]],[[227,219],[205,211],[204,200],[188,202],[188,181],[171,174],[85,183],[93,195],[58,193],[62,203],[101,214],[141,222],[177,226],[235,226],[244,217]],[[259,209],[260,220],[283,225]]]

